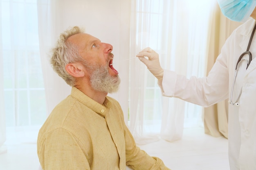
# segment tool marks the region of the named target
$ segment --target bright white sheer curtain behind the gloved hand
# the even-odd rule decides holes
[[[147,46],[160,57],[162,68],[178,74],[204,76],[211,4],[205,0],[137,0],[132,6],[131,54]],[[161,96],[157,80],[131,61],[130,130],[140,144],[162,137],[174,141],[183,127],[202,125],[202,107]],[[184,124],[185,121],[185,124]]]

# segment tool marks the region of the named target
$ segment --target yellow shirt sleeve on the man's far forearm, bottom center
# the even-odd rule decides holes
[[[124,125],[126,139],[126,165],[134,170],[170,170],[158,157],[151,157],[136,146],[129,129]]]

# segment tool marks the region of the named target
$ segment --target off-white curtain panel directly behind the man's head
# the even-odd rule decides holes
[[[111,2],[111,3],[110,3]],[[40,56],[43,65],[47,113],[60,100],[70,94],[70,87],[53,72],[49,65],[49,50],[59,34],[72,26],[81,26],[85,32],[112,44],[114,67],[119,71],[121,85],[119,92],[110,94],[116,98],[128,115],[128,62],[129,59],[129,0],[38,0],[38,29]]]

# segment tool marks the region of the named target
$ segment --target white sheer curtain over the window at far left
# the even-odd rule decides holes
[[[36,0],[0,4],[0,143],[36,142],[46,118]]]

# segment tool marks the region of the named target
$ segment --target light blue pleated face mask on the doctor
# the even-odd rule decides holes
[[[218,0],[221,12],[230,20],[245,22],[256,7],[256,0]]]

